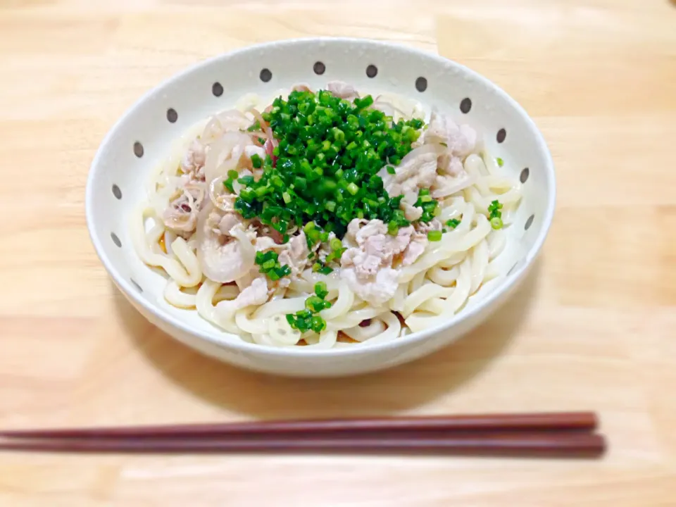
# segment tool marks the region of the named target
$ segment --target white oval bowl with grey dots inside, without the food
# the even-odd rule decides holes
[[[374,66],[377,74],[370,77]],[[522,258],[499,286],[458,314],[449,315],[444,325],[386,344],[326,351],[249,344],[216,329],[196,311],[168,305],[162,295],[164,278],[140,261],[127,232],[130,213],[143,199],[151,169],[168,155],[184,130],[232,107],[245,94],[272,99],[281,88],[304,82],[317,89],[329,80],[349,82],[364,93],[410,96],[428,109],[437,106],[448,111],[483,134],[491,154],[503,158],[523,182],[522,204],[515,223],[508,228],[508,234],[520,237]],[[467,112],[466,99],[471,101]],[[539,253],[551,224],[555,193],[553,163],[542,134],[525,111],[486,78],[446,58],[394,44],[298,39],[212,58],[143,96],[115,123],[99,147],[87,180],[86,213],[96,253],[115,284],[164,332],[209,356],[251,370],[339,376],[420,358],[487,318],[525,277]]]

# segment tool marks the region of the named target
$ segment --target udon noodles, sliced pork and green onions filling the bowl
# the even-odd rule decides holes
[[[132,214],[171,305],[330,349],[437,326],[506,275],[520,182],[481,132],[343,82],[246,102],[189,130]]]

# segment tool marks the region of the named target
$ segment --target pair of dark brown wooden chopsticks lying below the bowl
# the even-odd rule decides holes
[[[342,451],[599,456],[594,413],[280,420],[0,431],[0,450],[118,453]]]

